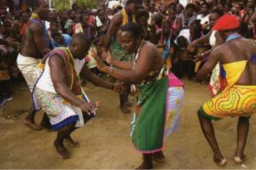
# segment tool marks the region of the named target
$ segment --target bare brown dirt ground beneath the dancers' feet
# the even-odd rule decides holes
[[[179,131],[165,139],[166,162],[154,163],[158,169],[255,169],[256,168],[256,117],[251,118],[247,139],[247,161],[242,165],[233,161],[236,149],[236,118],[214,122],[219,147],[228,159],[225,167],[212,161],[206,139],[197,120],[197,109],[210,98],[205,85],[185,82],[185,105]],[[33,131],[22,120],[31,101],[26,86],[15,89],[14,99],[0,110],[0,168],[29,169],[132,169],[140,165],[142,156],[137,153],[130,138],[131,115],[119,110],[119,97],[112,91],[88,84],[85,92],[101,105],[95,119],[73,133],[81,146],[67,149],[73,158],[62,160],[56,154],[53,141],[56,133]],[[40,122],[42,113],[38,113]]]

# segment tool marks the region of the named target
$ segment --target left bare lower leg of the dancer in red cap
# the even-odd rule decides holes
[[[218,148],[218,142],[215,137],[215,132],[214,128],[212,127],[211,120],[207,119],[205,116],[202,116],[201,111],[198,111],[198,118],[201,125],[201,130],[212,148],[214,154],[213,161],[218,163],[218,165],[225,165],[227,160],[224,158]]]

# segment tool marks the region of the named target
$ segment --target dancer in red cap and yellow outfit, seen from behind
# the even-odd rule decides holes
[[[217,30],[225,41],[210,54],[207,63],[197,74],[203,81],[220,62],[225,71],[227,85],[224,90],[208,100],[198,111],[201,129],[213,151],[213,160],[225,165],[227,160],[218,148],[212,120],[218,121],[228,116],[238,116],[237,147],[234,161],[245,160],[245,145],[249,129],[249,117],[256,112],[256,45],[252,40],[237,33],[239,22],[234,15],[225,14],[213,30]]]

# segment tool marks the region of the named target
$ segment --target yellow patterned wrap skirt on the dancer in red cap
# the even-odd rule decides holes
[[[227,116],[251,116],[256,113],[256,86],[234,85],[210,99],[201,113],[211,120]]]

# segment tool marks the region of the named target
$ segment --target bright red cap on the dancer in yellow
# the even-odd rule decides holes
[[[237,17],[233,14],[224,14],[220,17],[217,23],[213,26],[213,30],[224,31],[233,30],[239,27],[239,21]]]

